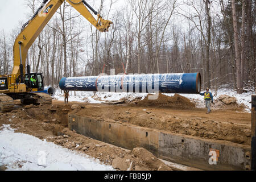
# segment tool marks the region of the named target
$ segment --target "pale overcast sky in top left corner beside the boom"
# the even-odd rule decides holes
[[[25,0],[0,0],[0,29],[10,32],[19,25],[19,21],[26,21],[27,9]]]

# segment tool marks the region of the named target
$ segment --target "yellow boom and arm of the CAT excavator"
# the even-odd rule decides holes
[[[90,7],[84,0],[44,0],[32,18],[24,24],[22,31],[17,36],[14,43],[13,75],[16,75],[16,77],[20,76],[20,83],[24,81],[28,49],[35,42],[40,32],[42,32],[43,28],[64,1],[67,1],[71,6],[79,11],[79,13],[92,23],[97,30],[107,32],[111,26],[111,21],[102,19],[101,15],[98,14],[97,11],[93,10],[92,7]],[[97,20],[89,12],[86,6],[98,16]]]

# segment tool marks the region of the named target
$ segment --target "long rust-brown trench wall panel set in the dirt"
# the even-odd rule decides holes
[[[250,169],[250,147],[231,142],[190,137],[122,122],[97,121],[75,114],[69,114],[69,129],[129,150],[143,147],[158,158],[190,167],[205,170]],[[217,165],[209,164],[210,148],[220,151]]]

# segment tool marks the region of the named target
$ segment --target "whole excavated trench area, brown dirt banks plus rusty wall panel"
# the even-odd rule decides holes
[[[242,115],[244,123],[235,123],[223,117],[213,117],[213,121],[205,117],[203,110],[193,109],[184,98],[174,100],[175,109],[174,105],[168,107],[161,101],[146,107],[142,102],[125,105],[65,105],[61,102],[53,102],[51,106],[18,105],[11,113],[1,114],[0,124],[11,119],[16,132],[34,135],[70,150],[86,152],[106,164],[124,156],[129,156],[129,160],[135,159],[131,159],[128,151],[118,149],[113,152],[109,146],[109,150],[97,147],[96,140],[131,151],[143,147],[158,158],[200,169],[250,169],[247,115]],[[182,107],[179,107],[183,101],[187,104],[180,104]],[[195,112],[200,113],[200,118],[193,115]],[[232,114],[236,118],[230,112],[225,115]],[[83,147],[77,148],[77,144]],[[219,154],[217,165],[209,165],[209,151],[212,150]],[[147,164],[138,166],[153,169]]]

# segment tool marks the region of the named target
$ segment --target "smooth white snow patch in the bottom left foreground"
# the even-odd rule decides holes
[[[10,171],[109,171],[111,166],[31,135],[0,128],[0,166]]]

